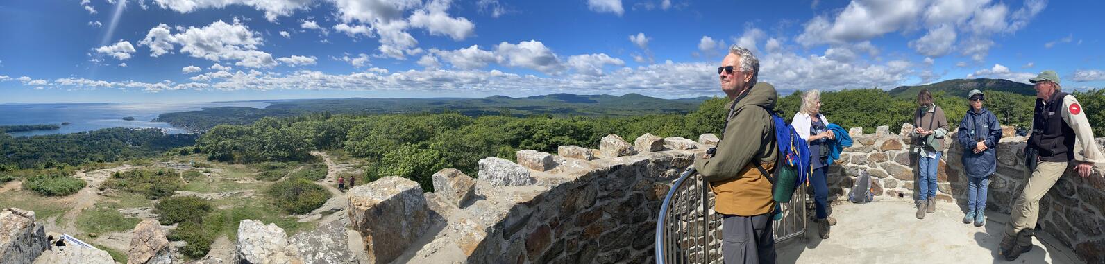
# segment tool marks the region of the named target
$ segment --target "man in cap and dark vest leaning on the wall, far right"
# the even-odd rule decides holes
[[[1094,163],[1105,162],[1085,110],[1073,95],[1061,91],[1059,74],[1043,71],[1029,82],[1035,84],[1036,104],[1025,152],[1036,151],[1039,156],[1032,177],[1009,213],[1009,226],[999,249],[999,254],[1007,261],[1017,260],[1021,253],[1032,249],[1033,228],[1040,217],[1040,199],[1074,160],[1075,139],[1082,147],[1083,159],[1074,166],[1080,177],[1090,177]],[[1031,168],[1032,165],[1029,166]]]

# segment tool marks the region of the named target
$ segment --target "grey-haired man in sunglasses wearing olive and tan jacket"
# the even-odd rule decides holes
[[[716,194],[714,210],[723,215],[722,254],[725,263],[775,263],[771,231],[771,182],[756,168],[770,170],[776,149],[771,116],[779,95],[757,83],[759,60],[748,49],[733,45],[717,67],[722,92],[730,99],[725,128],[716,148],[695,157],[694,167]]]

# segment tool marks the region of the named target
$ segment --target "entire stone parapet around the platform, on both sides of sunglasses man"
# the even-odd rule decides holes
[[[912,200],[916,154],[904,136],[909,129],[851,129],[854,145],[830,167],[830,199],[848,193],[867,171],[877,196]],[[950,148],[939,165],[937,199],[965,208],[967,176],[954,137],[945,141]],[[453,169],[435,173],[438,193],[385,178],[350,191],[349,215],[376,263],[649,263],[656,214],[672,181],[705,144],[716,141],[713,135],[699,142],[643,135],[630,144],[611,135],[599,149],[523,150],[517,162],[481,160],[475,178]],[[1023,141],[1010,136],[999,144],[991,211],[1008,213],[1028,179]],[[1091,263],[1105,261],[1101,175],[1064,176],[1041,202],[1043,230]]]

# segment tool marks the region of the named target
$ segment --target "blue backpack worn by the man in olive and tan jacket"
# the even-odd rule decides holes
[[[771,172],[756,165],[760,173],[768,176],[771,181],[771,197],[777,202],[790,202],[794,194],[794,189],[806,182],[810,171],[810,147],[798,136],[794,127],[779,115],[782,112],[762,107],[771,115],[772,130],[775,130],[775,141],[779,148],[779,158],[776,159],[775,168]]]

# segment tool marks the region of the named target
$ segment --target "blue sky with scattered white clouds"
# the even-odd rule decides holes
[[[0,3],[0,103],[720,95],[1055,70],[1105,87],[1105,1],[50,0]]]

